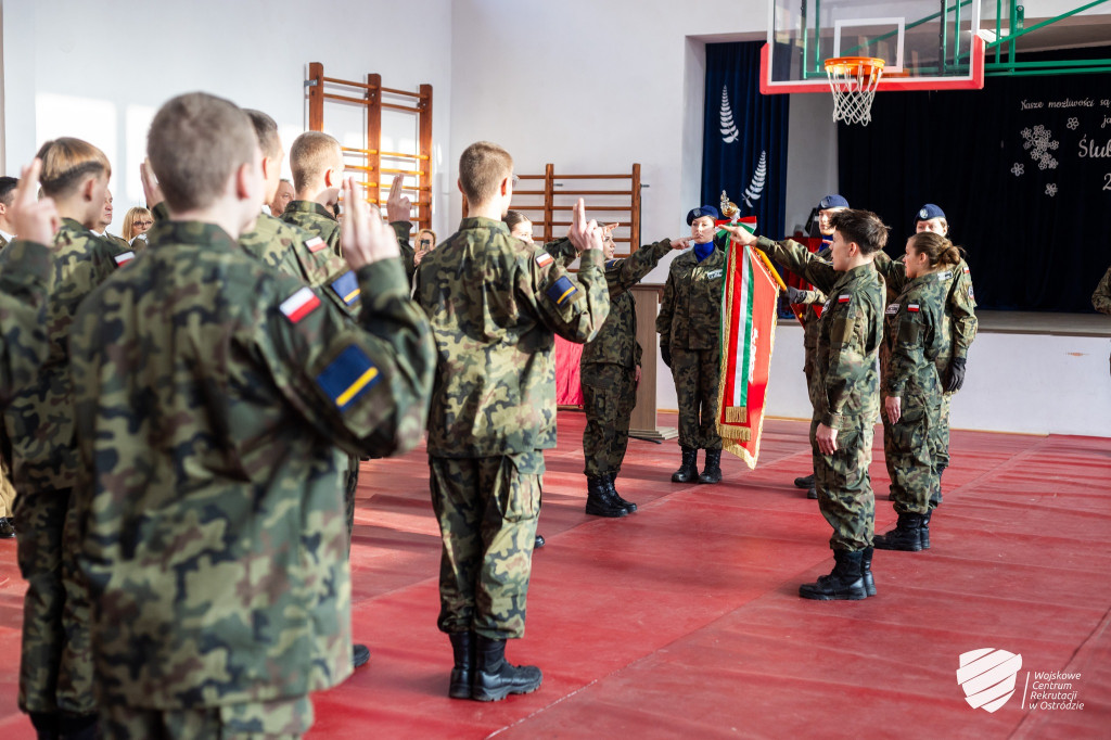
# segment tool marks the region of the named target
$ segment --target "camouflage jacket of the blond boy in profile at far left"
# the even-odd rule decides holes
[[[78,306],[119,263],[133,257],[72,219],[54,236],[53,276],[47,299],[50,350],[31,382],[19,387],[4,410],[11,479],[21,494],[72,488],[80,463],[73,438],[70,324]]]

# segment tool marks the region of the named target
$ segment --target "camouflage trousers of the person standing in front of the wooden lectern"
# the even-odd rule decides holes
[[[629,448],[629,420],[637,406],[635,369],[613,362],[583,364],[582,409],[587,428],[582,432],[585,474],[618,474]]]

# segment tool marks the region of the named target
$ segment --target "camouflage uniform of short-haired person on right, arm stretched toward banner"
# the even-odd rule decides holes
[[[871,264],[848,272],[790,239],[765,237],[758,247],[829,296],[819,323],[817,371],[822,392],[810,422],[814,487],[822,516],[833,528],[830,547],[855,552],[872,546],[875,498],[868,466],[879,413],[875,359],[883,338],[883,281]],[[837,450],[822,454],[815,433],[838,430]]]

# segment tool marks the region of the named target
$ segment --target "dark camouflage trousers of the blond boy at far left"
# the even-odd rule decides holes
[[[26,712],[93,714],[90,604],[77,566],[80,542],[70,489],[16,499],[23,597],[19,707]]]

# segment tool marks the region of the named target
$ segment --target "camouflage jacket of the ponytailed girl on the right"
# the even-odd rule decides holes
[[[887,394],[901,397],[904,408],[941,402],[935,362],[944,344],[944,303],[951,282],[947,272],[914,278],[884,311],[883,387]]]

